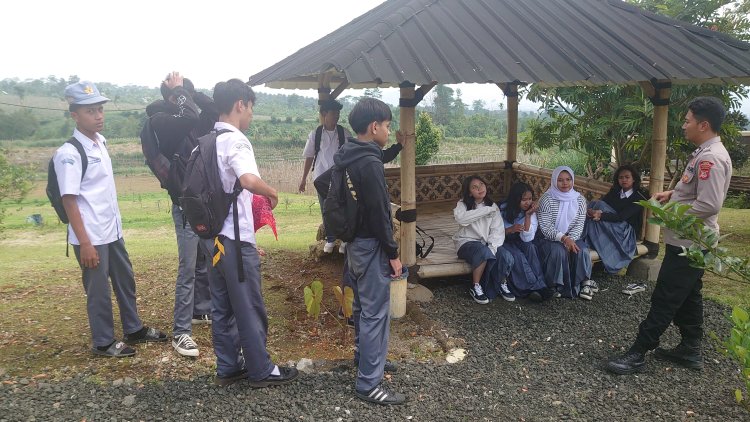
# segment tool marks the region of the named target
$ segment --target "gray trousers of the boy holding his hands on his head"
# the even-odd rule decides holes
[[[211,313],[206,256],[198,247],[198,237],[185,220],[182,208],[172,204],[172,220],[177,236],[177,280],[174,289],[174,326],[172,335],[192,333],[193,315]]]

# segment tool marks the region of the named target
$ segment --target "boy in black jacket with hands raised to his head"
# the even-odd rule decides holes
[[[198,145],[198,138],[213,129],[219,113],[213,100],[196,92],[193,83],[179,72],[168,74],[160,90],[163,100],[146,107],[148,120],[141,132],[141,143],[146,162],[172,199],[179,259],[172,347],[180,355],[197,357],[199,350],[192,338],[193,324],[211,323],[211,293],[206,256],[199,247],[198,236],[185,219],[179,196],[190,153]]]

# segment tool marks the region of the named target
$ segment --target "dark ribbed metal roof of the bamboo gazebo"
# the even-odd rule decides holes
[[[250,77],[272,88],[437,81],[750,83],[750,44],[616,0],[389,0]]]

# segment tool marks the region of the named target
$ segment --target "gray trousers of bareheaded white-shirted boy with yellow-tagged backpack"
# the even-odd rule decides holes
[[[208,267],[216,374],[224,377],[247,368],[248,378],[260,381],[271,375],[275,366],[266,350],[268,318],[260,285],[260,257],[253,244],[241,242],[245,281],[240,283],[235,241],[224,236],[218,239],[224,254],[216,266]],[[217,253],[214,240],[201,242],[211,259]]]

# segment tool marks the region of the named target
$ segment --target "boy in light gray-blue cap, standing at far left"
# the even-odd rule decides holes
[[[109,280],[120,308],[125,343],[161,342],[167,336],[143,325],[138,317],[135,279],[122,238],[112,161],[106,139],[99,134],[104,127],[104,103],[109,99],[93,83],[85,81],[68,85],[65,99],[76,129],[73,138],[57,149],[52,162],[70,222],[69,240],[82,271],[91,351],[98,356],[133,356],[135,350],[114,337]]]

